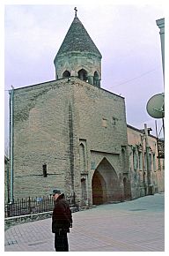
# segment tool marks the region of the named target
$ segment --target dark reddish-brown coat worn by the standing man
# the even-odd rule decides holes
[[[52,232],[56,233],[59,230],[70,232],[71,225],[71,210],[68,202],[64,199],[64,194],[61,194],[55,201],[55,208],[52,215]]]

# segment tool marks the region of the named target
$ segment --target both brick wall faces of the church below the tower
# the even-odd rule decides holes
[[[123,171],[121,147],[127,148],[128,142],[122,97],[75,78],[15,89],[15,199],[47,195],[59,187],[75,191],[80,200],[81,141],[92,200],[92,175],[104,157],[118,177]]]

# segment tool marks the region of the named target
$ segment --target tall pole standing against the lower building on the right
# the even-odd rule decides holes
[[[148,195],[152,194],[151,191],[151,162],[149,154],[149,140],[148,140],[148,129],[147,124],[144,124],[145,132],[145,150],[146,150],[146,159],[147,159],[147,185],[148,185]]]

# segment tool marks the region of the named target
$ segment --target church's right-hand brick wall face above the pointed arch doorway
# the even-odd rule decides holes
[[[74,80],[73,116],[75,139],[75,173],[77,192],[81,192],[79,165],[79,145],[83,143],[86,155],[89,200],[92,200],[92,176],[104,157],[122,177],[121,147],[127,152],[127,126],[124,99],[106,90]],[[129,162],[126,162],[129,171]]]

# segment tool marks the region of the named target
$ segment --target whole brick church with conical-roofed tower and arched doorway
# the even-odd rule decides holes
[[[132,198],[124,98],[101,88],[101,54],[77,18],[55,80],[13,90],[14,199],[54,188],[79,206]]]

